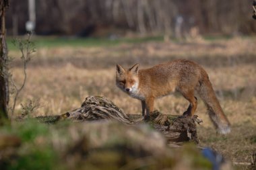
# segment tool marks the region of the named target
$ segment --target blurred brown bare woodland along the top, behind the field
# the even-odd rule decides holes
[[[24,34],[28,1],[9,0],[9,35]],[[186,36],[253,34],[250,0],[36,0],[36,34]]]

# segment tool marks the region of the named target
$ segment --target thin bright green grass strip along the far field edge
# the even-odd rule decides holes
[[[7,37],[7,47],[9,50],[18,50],[12,41],[16,37]],[[25,36],[19,36],[17,38],[25,39]],[[216,41],[216,40],[230,40],[234,38],[234,36],[211,36],[206,35],[203,36],[204,40],[207,41]],[[249,38],[244,36],[243,38]],[[163,36],[145,36],[145,37],[137,37],[137,38],[116,38],[110,39],[106,37],[102,38],[80,38],[80,37],[72,37],[72,36],[32,36],[32,42],[36,44],[36,48],[56,48],[63,46],[71,46],[71,47],[101,47],[101,46],[117,46],[119,44],[139,44],[143,42],[164,42]],[[172,42],[180,42],[176,38],[171,38]],[[183,40],[182,40],[183,41]]]

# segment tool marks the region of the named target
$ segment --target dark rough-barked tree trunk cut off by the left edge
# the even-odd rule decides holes
[[[5,10],[9,5],[8,0],[0,2],[1,33],[0,33],[0,122],[7,116],[9,102],[9,86],[7,77],[7,45],[5,42]]]

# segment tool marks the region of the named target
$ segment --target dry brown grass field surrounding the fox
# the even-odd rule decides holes
[[[199,100],[196,114],[201,146],[210,146],[230,161],[251,162],[256,153],[256,38],[201,40],[199,42],[141,42],[116,46],[38,48],[28,67],[28,81],[18,98],[20,103],[38,100],[32,116],[63,114],[79,108],[88,95],[104,95],[127,114],[139,114],[140,102],[115,86],[115,65],[129,67],[137,62],[151,67],[175,58],[187,58],[202,65],[210,76],[218,99],[232,124],[226,136],[216,134]],[[10,51],[10,56],[20,56]],[[21,63],[14,60],[15,81],[23,79]],[[162,97],[155,108],[181,115],[188,102],[179,94]],[[237,169],[249,169],[245,165]]]

